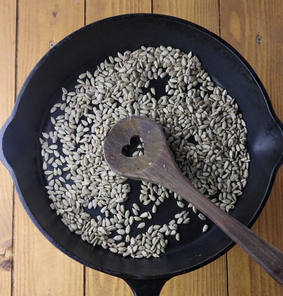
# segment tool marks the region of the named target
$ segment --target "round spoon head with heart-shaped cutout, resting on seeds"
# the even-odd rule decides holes
[[[127,157],[122,149],[135,136],[143,139],[144,155]],[[116,174],[157,184],[162,182],[157,174],[159,168],[167,172],[164,156],[170,155],[169,158],[172,158],[162,128],[153,119],[144,116],[126,117],[113,126],[105,139],[103,152],[109,167]],[[178,170],[177,165],[174,169]],[[167,174],[170,173],[168,171]]]

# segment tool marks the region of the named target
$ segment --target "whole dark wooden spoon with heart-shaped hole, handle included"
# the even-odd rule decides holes
[[[123,155],[123,147],[133,136],[143,139],[144,155]],[[161,184],[191,202],[283,287],[283,253],[221,210],[183,176],[162,128],[153,119],[123,118],[106,136],[103,151],[111,170],[120,176]]]

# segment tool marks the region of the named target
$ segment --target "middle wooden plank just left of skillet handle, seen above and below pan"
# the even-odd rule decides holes
[[[151,12],[151,0],[87,0],[86,23],[95,22],[105,17],[126,13]],[[102,272],[86,268],[85,296],[101,295],[132,296],[129,286],[122,280]]]

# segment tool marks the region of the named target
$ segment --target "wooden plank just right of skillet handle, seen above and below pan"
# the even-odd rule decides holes
[[[181,17],[219,35],[217,0],[153,0],[153,12]],[[161,295],[174,294],[227,295],[226,255],[196,271],[171,279],[165,284]]]

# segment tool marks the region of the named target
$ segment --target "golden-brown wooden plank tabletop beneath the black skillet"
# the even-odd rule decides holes
[[[0,125],[28,73],[74,30],[112,15],[153,12],[195,22],[234,46],[255,69],[283,120],[283,2],[280,0],[0,0]],[[283,170],[252,229],[283,250]],[[123,280],[68,258],[25,213],[0,165],[0,295],[132,295]],[[279,296],[275,283],[239,247],[199,270],[178,276],[162,296]]]

